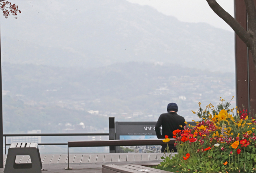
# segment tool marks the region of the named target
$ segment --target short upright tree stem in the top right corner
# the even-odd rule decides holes
[[[244,0],[248,14],[249,29],[256,34],[256,9],[254,0]]]

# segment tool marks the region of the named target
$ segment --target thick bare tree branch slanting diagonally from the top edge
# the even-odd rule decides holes
[[[216,0],[206,0],[212,8],[212,10],[220,17],[222,18],[238,35],[239,38],[246,44],[247,47],[250,46],[250,35],[244,28],[237,22],[236,19],[234,19],[228,12],[226,12],[217,2]],[[247,0],[245,0],[247,1]],[[250,0],[249,0],[250,1]]]

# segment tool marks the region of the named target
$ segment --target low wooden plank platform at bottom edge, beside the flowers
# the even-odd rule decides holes
[[[102,173],[172,173],[142,165],[102,165]]]

